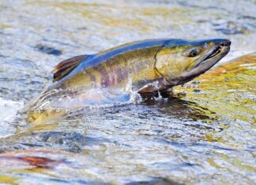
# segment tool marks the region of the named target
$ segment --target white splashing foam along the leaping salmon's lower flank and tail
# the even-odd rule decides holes
[[[26,108],[40,109],[83,109],[106,108],[111,106],[126,105],[141,102],[141,95],[130,88],[126,92],[122,88],[92,88],[88,90],[67,91],[53,90],[41,94]]]

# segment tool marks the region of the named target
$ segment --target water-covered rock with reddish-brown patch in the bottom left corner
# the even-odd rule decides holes
[[[61,150],[7,152],[0,154],[0,183],[30,184],[40,180],[43,184],[105,184],[87,175],[81,168],[85,163],[85,157]],[[81,173],[86,180],[77,177]]]

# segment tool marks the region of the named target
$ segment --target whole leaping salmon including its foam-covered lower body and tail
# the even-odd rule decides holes
[[[228,39],[152,39],[71,57],[56,65],[53,83],[24,113],[28,122],[44,123],[64,117],[69,109],[123,105],[136,101],[137,94],[169,93],[213,67],[230,45]]]

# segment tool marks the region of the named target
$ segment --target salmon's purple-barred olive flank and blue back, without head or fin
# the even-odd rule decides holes
[[[134,84],[156,80],[160,78],[154,69],[156,53],[168,44],[168,41],[168,39],[154,39],[128,43],[90,55],[69,75],[53,84],[53,87],[63,89],[124,87],[129,80]],[[172,42],[179,44],[184,41],[173,39]]]

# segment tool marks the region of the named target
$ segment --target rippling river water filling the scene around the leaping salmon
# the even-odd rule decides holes
[[[254,184],[255,54],[168,99],[22,110],[59,61],[138,39],[228,38],[222,64],[252,53],[255,9],[254,1],[1,1],[0,183]]]

